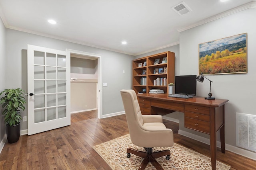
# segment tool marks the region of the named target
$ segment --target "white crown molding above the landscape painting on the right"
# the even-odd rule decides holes
[[[196,26],[202,25],[202,24],[204,24],[204,23],[208,23],[208,22],[210,22],[210,21],[218,20],[218,19],[223,18],[223,17],[225,17],[225,16],[229,16],[229,15],[234,14],[234,13],[236,13],[236,12],[240,12],[240,11],[246,10],[246,9],[248,9],[248,8],[256,8],[256,1],[252,1],[252,2],[249,2],[249,3],[247,3],[247,4],[244,4],[244,5],[238,6],[238,7],[236,7],[236,8],[233,8],[233,9],[231,9],[231,10],[227,10],[227,11],[225,11],[225,12],[222,12],[222,13],[217,14],[217,15],[215,15],[215,16],[206,18],[206,19],[204,19],[204,20],[201,20],[201,21],[199,21],[199,22],[197,22],[197,23],[194,23],[194,24],[192,24],[192,25],[189,25],[189,26],[187,26],[187,27],[184,27],[184,28],[181,28],[181,29],[177,29],[177,31],[178,31],[178,32],[182,32],[182,31],[185,31],[185,30],[187,30],[187,29],[194,28],[194,27],[196,27]]]

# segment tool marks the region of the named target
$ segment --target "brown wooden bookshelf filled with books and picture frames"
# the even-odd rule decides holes
[[[162,63],[164,57],[166,57],[166,63]],[[155,60],[157,59],[159,59],[158,64],[155,63]],[[132,70],[132,86],[136,94],[138,94],[138,92],[142,92],[143,88],[146,88],[146,93],[148,93],[152,88],[158,88],[164,90],[164,93],[168,94],[168,84],[171,82],[174,83],[175,53],[167,51],[164,53],[135,59],[132,61]],[[143,74],[145,71],[146,74]],[[143,80],[144,84],[142,83]],[[155,81],[156,84],[154,84],[154,80],[158,80]]]

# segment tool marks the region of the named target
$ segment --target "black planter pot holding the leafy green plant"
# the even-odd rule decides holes
[[[20,138],[20,122],[17,125],[6,125],[6,136],[8,143],[15,143]]]

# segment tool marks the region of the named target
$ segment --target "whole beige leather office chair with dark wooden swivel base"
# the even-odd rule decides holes
[[[153,147],[172,147],[173,133],[172,129],[167,129],[162,123],[161,115],[142,115],[140,106],[134,90],[121,90],[121,96],[124,104],[125,115],[128,123],[131,141],[134,145],[144,147],[146,152],[127,148],[127,157],[135,154],[144,158],[140,164],[139,170],[144,170],[151,162],[157,170],[164,170],[156,161],[156,158],[166,156],[170,159],[170,150],[152,152]]]

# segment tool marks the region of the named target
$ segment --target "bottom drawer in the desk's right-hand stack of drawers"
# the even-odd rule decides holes
[[[184,127],[210,134],[210,122],[185,117]]]

